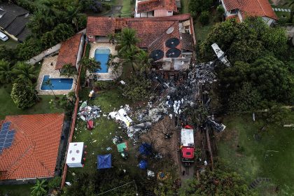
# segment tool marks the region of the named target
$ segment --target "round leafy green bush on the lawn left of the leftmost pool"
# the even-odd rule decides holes
[[[29,83],[14,83],[10,94],[18,109],[27,109],[38,101],[36,90]]]

